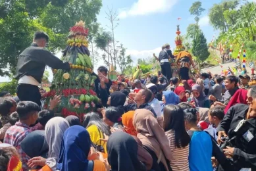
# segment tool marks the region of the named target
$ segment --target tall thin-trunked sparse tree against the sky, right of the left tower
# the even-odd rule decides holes
[[[112,42],[113,42],[113,60],[114,60],[114,64],[115,64],[115,68],[116,68],[116,55],[118,50],[116,49],[116,44],[115,44],[115,28],[118,26],[119,23],[118,22],[119,18],[118,14],[116,11],[113,10],[113,8],[108,9],[109,11],[106,12],[107,14],[107,19],[109,20],[109,22],[111,23],[111,26],[107,26],[108,28],[111,29],[112,32]]]

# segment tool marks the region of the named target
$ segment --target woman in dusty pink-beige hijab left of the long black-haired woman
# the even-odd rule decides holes
[[[133,124],[143,148],[152,156],[152,170],[171,170],[169,162],[173,157],[168,139],[153,113],[146,109],[135,110]]]

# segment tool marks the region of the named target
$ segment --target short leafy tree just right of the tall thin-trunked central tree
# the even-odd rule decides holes
[[[132,65],[132,57],[131,55],[126,56],[126,48],[123,47],[123,45],[120,45],[120,54],[116,59],[116,62],[121,70],[122,73]]]

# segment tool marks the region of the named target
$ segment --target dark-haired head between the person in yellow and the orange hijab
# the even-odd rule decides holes
[[[120,113],[116,109],[116,107],[108,107],[105,112],[103,112],[103,121],[108,126],[113,126],[115,123],[119,123]]]

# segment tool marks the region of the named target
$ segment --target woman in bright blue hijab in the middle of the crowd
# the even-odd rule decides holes
[[[176,95],[173,91],[163,91],[162,102],[160,103],[162,108],[161,112],[163,113],[165,105],[178,105],[178,103],[180,103],[180,97],[178,97],[178,95]]]

